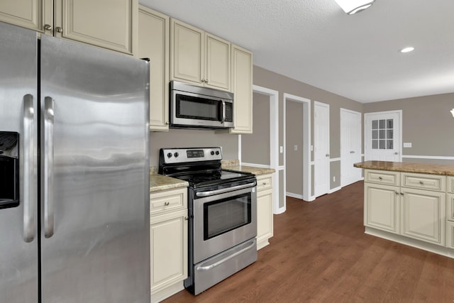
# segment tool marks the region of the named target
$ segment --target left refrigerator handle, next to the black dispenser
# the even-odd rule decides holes
[[[23,96],[23,241],[35,238],[35,109],[33,95]]]

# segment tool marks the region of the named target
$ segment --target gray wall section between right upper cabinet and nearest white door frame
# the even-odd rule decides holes
[[[241,162],[270,165],[270,97],[263,94],[253,94],[253,133],[241,135]]]

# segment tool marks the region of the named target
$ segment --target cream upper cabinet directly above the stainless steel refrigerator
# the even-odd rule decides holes
[[[132,54],[138,0],[4,0],[0,20]]]

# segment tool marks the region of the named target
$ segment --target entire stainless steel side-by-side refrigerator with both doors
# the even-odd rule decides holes
[[[150,302],[148,62],[0,22],[0,302]]]

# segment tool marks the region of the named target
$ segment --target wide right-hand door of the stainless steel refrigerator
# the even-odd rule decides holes
[[[41,38],[46,303],[150,302],[148,62]]]

